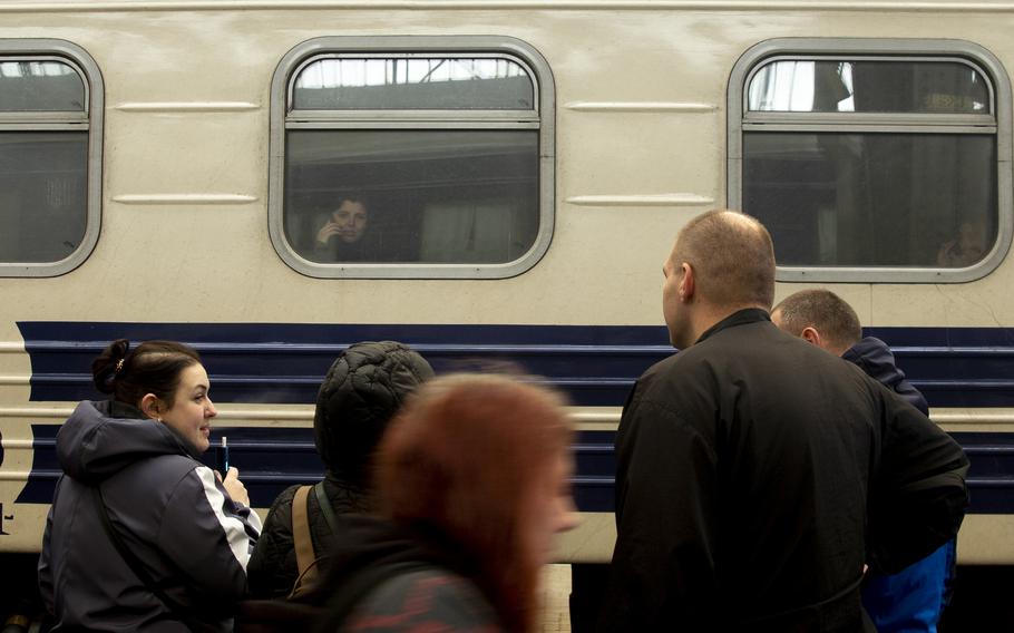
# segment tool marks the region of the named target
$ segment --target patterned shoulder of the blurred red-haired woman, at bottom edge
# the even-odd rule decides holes
[[[411,606],[411,611],[406,607]],[[383,624],[390,623],[390,627]],[[396,625],[397,623],[397,625]],[[408,571],[370,592],[353,612],[351,629],[402,631],[417,626],[500,631],[496,613],[468,580],[447,569]]]

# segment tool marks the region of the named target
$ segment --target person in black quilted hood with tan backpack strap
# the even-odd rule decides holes
[[[380,438],[404,399],[432,377],[426,359],[393,341],[355,343],[335,359],[313,417],[316,450],[326,468],[319,489],[334,515],[373,509],[370,478]],[[298,488],[279,495],[267,514],[248,567],[252,597],[284,597],[293,591],[299,577],[292,536]],[[325,513],[320,498],[310,494],[310,536],[318,557],[326,554],[333,534]]]

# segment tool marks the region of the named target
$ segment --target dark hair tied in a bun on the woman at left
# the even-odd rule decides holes
[[[117,339],[91,362],[95,387],[103,393],[137,407],[147,393],[173,406],[179,374],[201,362],[189,345],[172,341],[147,341],[133,351],[130,341]]]

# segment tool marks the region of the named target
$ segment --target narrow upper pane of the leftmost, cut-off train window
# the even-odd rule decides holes
[[[0,60],[0,111],[86,110],[85,84],[60,61]]]

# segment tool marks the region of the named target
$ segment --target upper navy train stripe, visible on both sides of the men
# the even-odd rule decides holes
[[[197,348],[218,402],[312,403],[331,361],[350,343],[402,341],[438,373],[510,363],[545,377],[571,401],[621,406],[634,380],[672,353],[663,327],[365,325],[292,323],[20,322],[31,399],[96,398],[90,364],[117,338]],[[1012,407],[1014,329],[874,328],[932,407]]]

